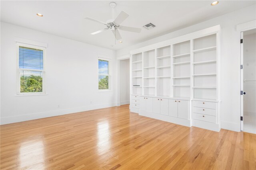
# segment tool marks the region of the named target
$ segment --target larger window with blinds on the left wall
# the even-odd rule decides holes
[[[17,43],[17,94],[46,93],[45,48]]]

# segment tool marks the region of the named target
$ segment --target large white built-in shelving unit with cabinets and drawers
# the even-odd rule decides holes
[[[132,51],[131,111],[142,110],[142,115],[161,120],[164,115],[166,121],[219,131],[219,31],[216,25]],[[156,107],[158,111],[164,109],[158,113]],[[179,115],[182,110],[186,110],[184,117]]]

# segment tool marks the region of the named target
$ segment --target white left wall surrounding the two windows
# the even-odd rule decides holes
[[[48,43],[47,95],[16,96],[15,37]],[[109,92],[98,91],[98,55],[111,59]],[[0,63],[1,124],[116,106],[115,51],[1,22]]]

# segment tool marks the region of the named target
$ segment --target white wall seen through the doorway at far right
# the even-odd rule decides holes
[[[256,116],[256,34],[244,35],[244,112]],[[249,81],[248,81],[249,80]]]

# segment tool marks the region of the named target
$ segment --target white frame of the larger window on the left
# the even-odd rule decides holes
[[[20,68],[20,66],[19,66],[19,47],[20,46],[43,50],[43,70]],[[34,95],[46,94],[46,47],[16,42],[16,54],[17,54],[17,64],[16,64],[17,65],[17,76],[16,76],[16,78],[17,78],[17,96],[34,96]],[[23,93],[20,92],[20,70],[42,71],[42,92],[23,92]]]

